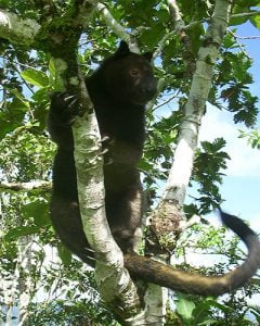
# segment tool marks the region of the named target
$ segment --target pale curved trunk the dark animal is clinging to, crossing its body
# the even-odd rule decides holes
[[[99,290],[114,311],[131,316],[139,312],[140,302],[106,221],[103,158],[95,114],[87,113],[77,118],[73,130],[80,213],[88,241],[95,251]],[[113,306],[116,302],[117,306]]]

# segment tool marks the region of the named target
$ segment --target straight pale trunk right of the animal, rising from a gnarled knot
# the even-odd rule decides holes
[[[205,40],[198,51],[191,91],[180,125],[174,160],[170,170],[161,202],[157,209],[155,225],[161,231],[174,230],[180,222],[180,211],[185,199],[186,188],[193,168],[194,152],[197,148],[198,131],[211,87],[218,49],[224,37],[230,18],[231,1],[217,0]],[[174,213],[176,212],[176,213]],[[179,216],[179,221],[177,218]],[[165,223],[161,222],[165,218]],[[161,226],[161,224],[164,224]]]

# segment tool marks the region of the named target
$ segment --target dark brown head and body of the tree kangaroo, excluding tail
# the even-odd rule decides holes
[[[132,53],[121,42],[117,52],[86,79],[101,135],[109,139],[112,164],[104,165],[106,216],[123,252],[134,248],[144,210],[136,165],[145,138],[145,103],[155,95],[157,85],[150,59],[151,53]],[[77,113],[76,98],[68,93],[53,96],[49,129],[58,148],[53,166],[51,218],[63,243],[88,262],[91,252],[79,214],[70,128]]]

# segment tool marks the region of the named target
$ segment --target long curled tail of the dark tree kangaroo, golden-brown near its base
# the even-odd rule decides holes
[[[224,225],[230,227],[248,249],[247,259],[234,271],[221,276],[203,276],[174,269],[134,253],[125,255],[125,266],[133,278],[141,278],[185,293],[220,296],[239,288],[260,267],[260,241],[258,236],[238,217],[223,213],[221,210],[220,215]]]

